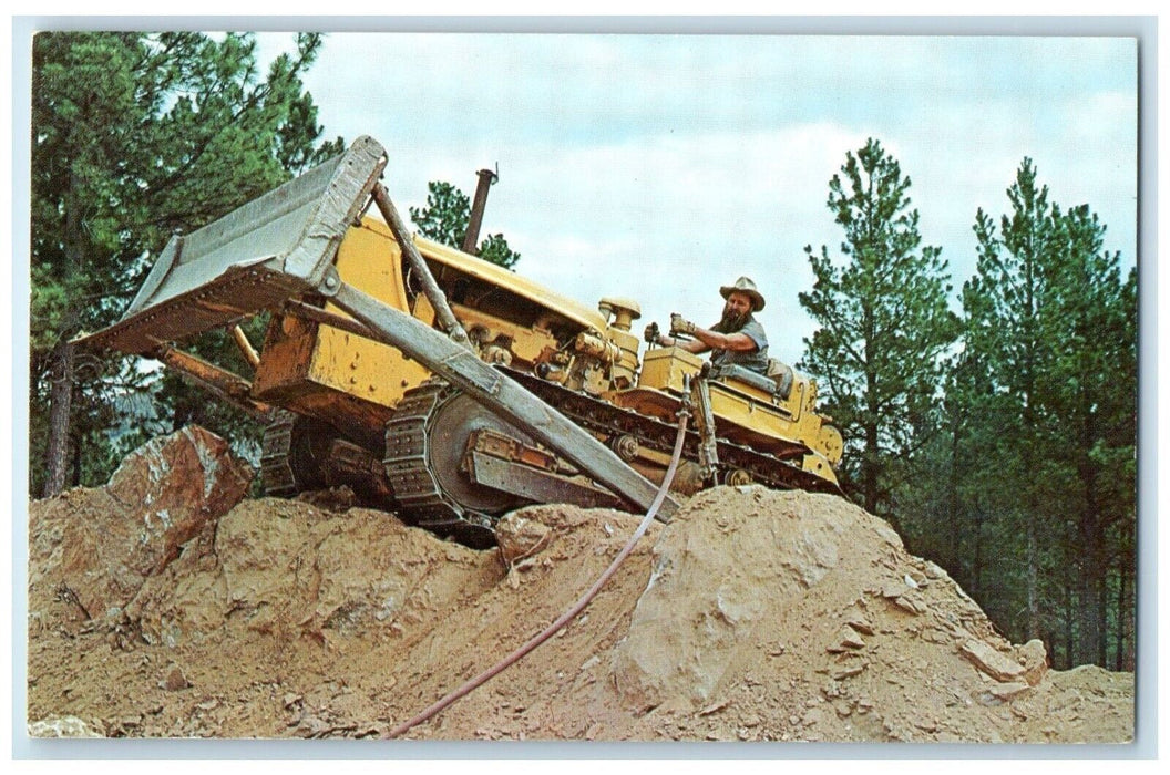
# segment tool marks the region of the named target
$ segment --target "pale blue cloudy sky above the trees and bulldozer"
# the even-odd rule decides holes
[[[292,43],[259,37],[262,61]],[[956,309],[976,213],[1009,212],[1025,157],[1133,265],[1137,67],[1120,36],[331,33],[305,85],[326,138],[386,147],[404,216],[428,181],[472,195],[498,168],[481,234],[504,234],[518,274],[590,307],[632,298],[639,327],[713,324],[748,276],[770,354],[796,364],[817,327],[804,248],[841,255],[828,181],[870,137],[911,181]]]

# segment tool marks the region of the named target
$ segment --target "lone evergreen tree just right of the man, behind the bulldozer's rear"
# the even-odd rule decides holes
[[[844,179],[842,177],[844,175]],[[800,304],[819,328],[801,367],[826,386],[825,408],[846,438],[845,484],[886,513],[904,464],[929,436],[942,355],[955,339],[947,263],[923,247],[910,179],[869,139],[830,181],[828,208],[845,229],[838,267],[806,247],[815,283]]]

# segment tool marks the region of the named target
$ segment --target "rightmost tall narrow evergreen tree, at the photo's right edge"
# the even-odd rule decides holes
[[[1057,342],[1045,369],[1045,409],[1054,418],[1057,450],[1075,551],[1076,660],[1108,662],[1108,577],[1122,560],[1115,528],[1135,519],[1136,318],[1127,298],[1120,254],[1103,249],[1104,227],[1087,205],[1057,215],[1052,302],[1044,335]]]

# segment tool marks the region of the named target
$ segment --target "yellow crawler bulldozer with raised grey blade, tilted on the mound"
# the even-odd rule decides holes
[[[473,255],[484,175],[459,250],[410,231],[387,162],[362,137],[173,236],[123,317],[77,342],[156,359],[263,417],[267,493],[346,485],[473,547],[526,504],[647,510],[680,413],[694,423],[659,519],[715,484],[838,492],[841,436],[814,380],[779,361],[758,374],[640,352],[636,300],[591,309]],[[240,325],[254,316],[259,347]],[[191,352],[213,330],[250,374]]]

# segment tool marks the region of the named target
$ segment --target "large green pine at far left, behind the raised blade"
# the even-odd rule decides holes
[[[300,35],[296,54],[261,78],[252,35],[34,40],[29,411],[30,452],[44,465],[33,466],[33,493],[60,491],[70,461],[115,459],[116,401],[144,387],[126,360],[75,353],[69,340],[117,319],[172,233],[340,151],[340,138],[317,144],[301,83],[319,46],[319,35]],[[174,403],[186,389],[174,382],[159,397]],[[73,482],[101,480],[102,469],[75,463]]]

